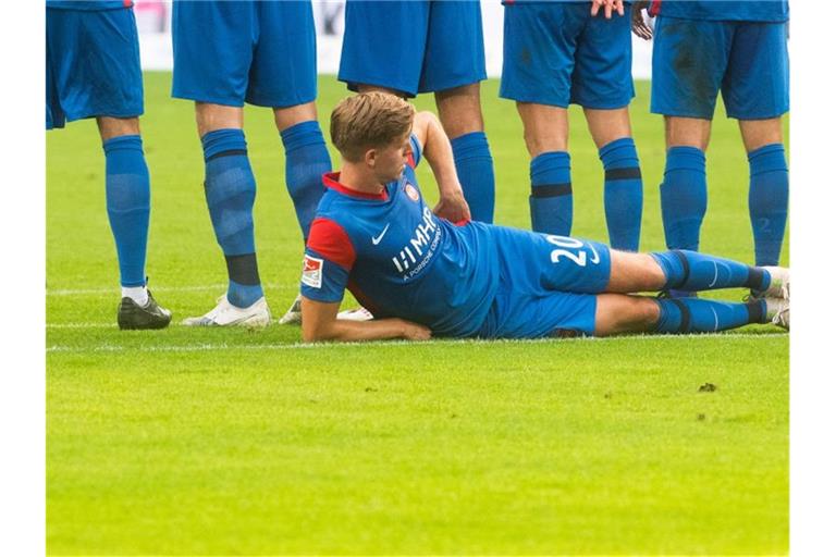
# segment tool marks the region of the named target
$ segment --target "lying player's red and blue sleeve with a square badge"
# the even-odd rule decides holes
[[[305,247],[302,295],[325,304],[342,301],[355,259],[345,230],[330,219],[315,219]]]

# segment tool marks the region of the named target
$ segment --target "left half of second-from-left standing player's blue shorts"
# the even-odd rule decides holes
[[[261,2],[174,2],[172,97],[244,106],[253,62],[257,3]]]

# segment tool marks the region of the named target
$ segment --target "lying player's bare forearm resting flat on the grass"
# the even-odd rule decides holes
[[[427,341],[430,330],[403,319],[379,319],[372,321],[347,321],[336,319],[340,302],[322,302],[302,297],[302,338],[306,343],[321,341],[383,341],[406,338]]]

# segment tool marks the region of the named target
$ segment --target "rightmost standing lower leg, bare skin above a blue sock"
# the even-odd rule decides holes
[[[780,119],[741,120],[740,133],[749,157],[754,264],[777,265],[789,206],[789,171]]]

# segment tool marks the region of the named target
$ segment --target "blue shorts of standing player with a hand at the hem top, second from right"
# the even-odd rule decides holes
[[[563,108],[629,104],[630,17],[591,17],[589,10],[589,2],[505,5],[500,97]]]

